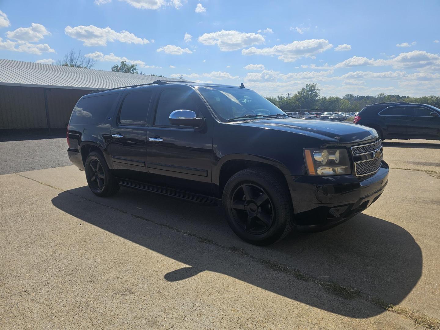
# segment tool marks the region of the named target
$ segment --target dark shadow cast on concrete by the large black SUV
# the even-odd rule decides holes
[[[328,231],[294,233],[274,245],[259,247],[238,239],[218,208],[156,194],[121,188],[111,198],[98,198],[88,187],[80,187],[61,192],[52,204],[80,220],[189,265],[164,272],[166,281],[214,271],[354,318],[368,318],[384,310],[372,304],[370,308],[359,307],[356,299],[346,300],[311,282],[268,268],[255,271],[261,266],[257,263],[273,260],[391,304],[399,304],[422,274],[422,252],[411,234],[396,224],[365,214]],[[231,246],[246,253],[231,253]],[[241,259],[238,263],[234,262],[237,258]]]

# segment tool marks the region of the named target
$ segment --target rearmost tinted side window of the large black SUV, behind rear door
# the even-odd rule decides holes
[[[70,124],[102,124],[113,108],[117,96],[108,94],[81,99],[73,109]]]

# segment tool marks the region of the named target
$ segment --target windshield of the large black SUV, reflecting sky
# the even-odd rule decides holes
[[[248,116],[246,119],[259,119],[261,116],[285,114],[263,96],[249,89],[234,87],[200,87],[198,91],[221,121]]]

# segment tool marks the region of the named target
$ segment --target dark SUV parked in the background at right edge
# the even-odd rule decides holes
[[[440,139],[440,109],[418,103],[375,103],[356,115],[355,124],[374,128],[381,139]]]

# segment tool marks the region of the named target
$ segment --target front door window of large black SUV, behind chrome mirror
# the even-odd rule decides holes
[[[169,122],[169,115],[174,110],[192,110],[196,113],[197,117],[202,117],[195,103],[195,97],[197,97],[197,95],[192,88],[165,89],[161,92],[154,125],[172,126]]]

